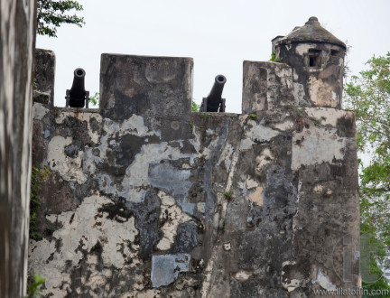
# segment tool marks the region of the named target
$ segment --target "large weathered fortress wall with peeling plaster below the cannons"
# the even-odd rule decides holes
[[[292,68],[254,61],[244,63],[246,114],[190,113],[192,67],[103,54],[101,109],[35,103],[36,159],[52,172],[44,236],[30,245],[44,293],[280,298],[356,287],[353,114],[295,106]]]

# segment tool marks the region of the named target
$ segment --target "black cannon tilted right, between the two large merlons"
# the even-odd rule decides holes
[[[223,75],[218,75],[209,96],[203,98],[200,105],[200,112],[225,112],[225,98],[222,98],[222,91],[226,83]]]

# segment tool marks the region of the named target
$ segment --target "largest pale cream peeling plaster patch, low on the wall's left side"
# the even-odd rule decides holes
[[[73,290],[93,297],[115,296],[116,290],[108,284],[112,275],[131,271],[142,262],[135,244],[135,218],[110,219],[104,206],[111,203],[107,197],[90,196],[74,211],[47,216],[61,228],[51,239],[32,240],[29,258],[30,266],[47,276],[43,293],[60,297]],[[77,278],[75,270],[83,275]]]

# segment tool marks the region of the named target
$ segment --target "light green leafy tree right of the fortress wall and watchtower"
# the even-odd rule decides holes
[[[371,158],[367,166],[359,159],[360,232],[369,233],[376,246],[371,273],[378,281],[364,286],[390,289],[376,265],[384,265],[390,251],[390,52],[373,56],[367,66],[345,86],[347,107],[357,117],[357,149]]]

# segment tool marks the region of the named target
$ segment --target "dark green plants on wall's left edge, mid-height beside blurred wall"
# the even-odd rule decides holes
[[[30,237],[32,239],[41,238],[42,235],[37,231],[37,212],[41,206],[41,200],[39,199],[39,193],[41,191],[42,182],[45,182],[51,172],[46,168],[38,169],[32,167],[31,175],[31,192],[30,192]]]

